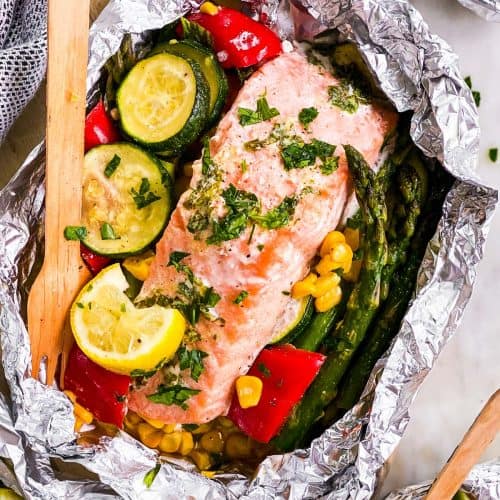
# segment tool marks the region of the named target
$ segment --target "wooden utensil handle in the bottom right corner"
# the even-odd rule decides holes
[[[481,413],[432,484],[425,497],[426,500],[452,498],[498,432],[500,432],[500,389],[484,405]]]

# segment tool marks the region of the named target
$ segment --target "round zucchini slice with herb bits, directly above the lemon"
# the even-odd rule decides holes
[[[97,146],[85,155],[82,224],[84,243],[94,252],[141,253],[161,236],[171,209],[172,181],[153,155],[126,143]]]

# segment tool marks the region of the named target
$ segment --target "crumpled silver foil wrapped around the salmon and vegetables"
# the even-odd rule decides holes
[[[188,10],[183,0],[113,0],[90,35],[88,88],[127,32],[143,34]],[[456,178],[419,273],[401,330],[379,360],[359,403],[307,450],[268,457],[252,478],[209,480],[182,460],[164,462],[151,488],[143,483],[154,451],[120,432],[81,447],[72,406],[56,388],[28,378],[25,328],[29,285],[43,254],[44,148],[38,146],[0,193],[0,478],[27,498],[216,499],[370,498],[409,419],[409,407],[470,297],[497,202],[475,178],[477,111],[457,56],[403,0],[303,0],[261,5],[280,33],[335,28],[356,42],[399,111],[413,110],[412,136]],[[90,95],[91,93],[89,93]],[[485,472],[488,475],[488,471]],[[488,476],[489,477],[489,476]],[[486,480],[485,480],[486,481]],[[493,481],[493,480],[492,480]],[[486,484],[486,482],[484,482]],[[493,482],[488,483],[493,484]],[[492,487],[493,488],[493,487]],[[493,489],[492,489],[493,491]],[[493,498],[494,496],[492,496]]]

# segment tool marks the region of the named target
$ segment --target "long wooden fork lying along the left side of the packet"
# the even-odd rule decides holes
[[[28,298],[32,376],[45,357],[47,384],[70,348],[68,312],[89,277],[80,243],[63,236],[80,225],[88,28],[89,0],[49,0],[45,258]]]

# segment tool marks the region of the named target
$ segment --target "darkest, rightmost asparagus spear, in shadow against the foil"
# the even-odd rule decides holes
[[[445,178],[440,180],[438,179],[439,176]],[[417,279],[425,248],[436,230],[441,217],[444,197],[451,185],[451,179],[446,174],[437,174],[434,177],[437,182],[435,182],[435,187],[424,207],[423,219],[411,241],[410,256],[401,273],[394,274],[389,297],[378,316],[375,327],[344,378],[339,397],[335,401],[335,406],[338,408],[347,410],[356,403],[363,392],[375,363],[387,350],[394,335],[399,330],[408,302],[413,294],[415,280]]]

